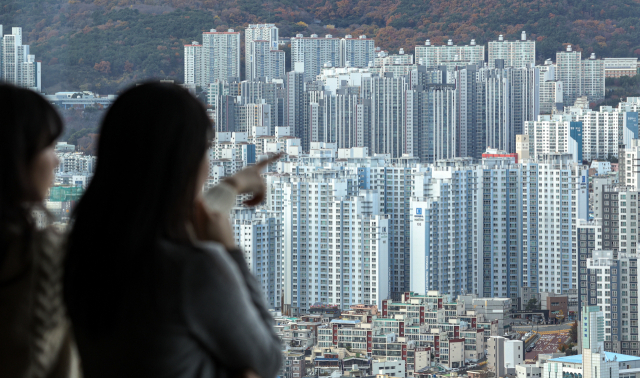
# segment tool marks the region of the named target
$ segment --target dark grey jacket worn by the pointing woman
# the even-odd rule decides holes
[[[280,341],[241,251],[167,241],[158,249],[153,275],[127,292],[109,332],[74,325],[84,376],[275,377]]]

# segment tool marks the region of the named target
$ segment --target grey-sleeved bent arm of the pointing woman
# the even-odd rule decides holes
[[[205,248],[185,275],[185,316],[191,331],[230,372],[252,370],[261,378],[275,377],[280,342],[264,319],[266,310],[256,305],[227,251],[216,243]]]

